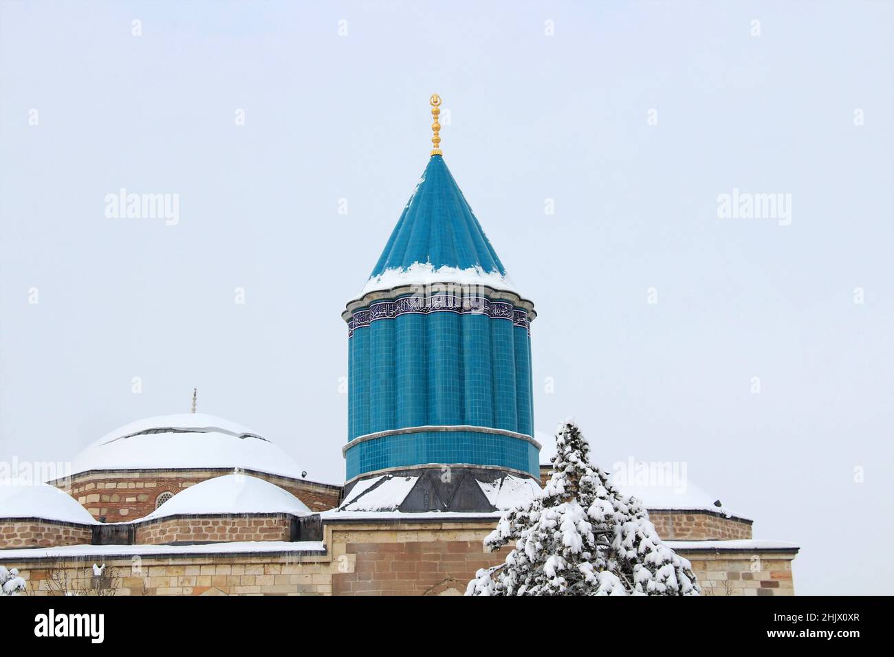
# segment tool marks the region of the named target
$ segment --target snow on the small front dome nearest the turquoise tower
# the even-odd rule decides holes
[[[190,486],[142,519],[221,513],[291,513],[293,516],[306,516],[310,512],[304,502],[277,485],[257,476],[233,474],[215,476],[214,479]]]

